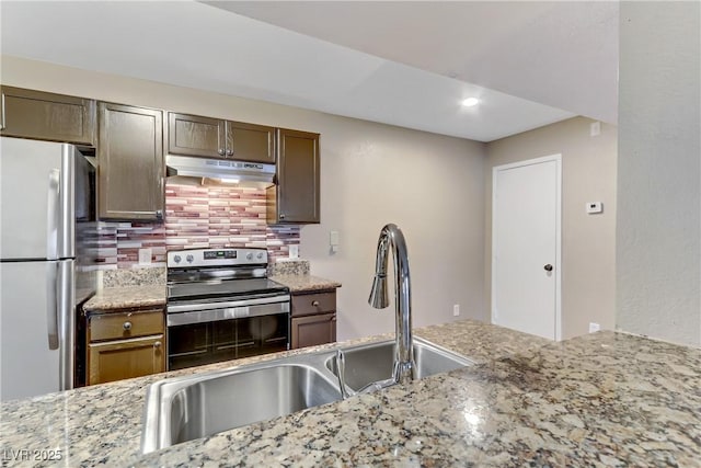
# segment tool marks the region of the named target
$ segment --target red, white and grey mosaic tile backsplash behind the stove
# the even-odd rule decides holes
[[[151,249],[151,265],[165,252],[188,248],[262,247],[269,262],[299,244],[299,226],[267,226],[265,190],[168,182],[165,222],[100,222],[101,270],[139,267],[139,249]]]

